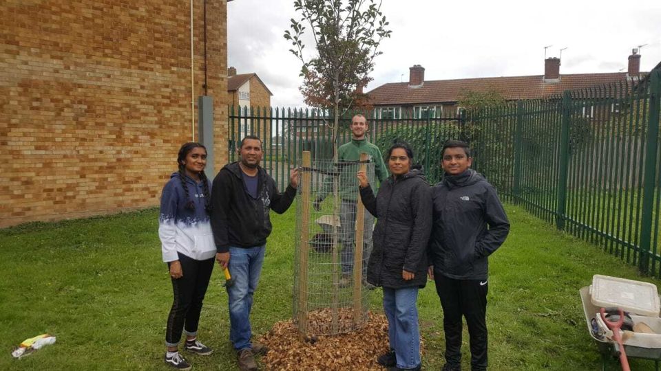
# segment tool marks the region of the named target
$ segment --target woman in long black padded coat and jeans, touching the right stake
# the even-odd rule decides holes
[[[365,172],[358,172],[360,197],[376,216],[374,247],[367,281],[384,289],[390,352],[379,364],[389,370],[420,370],[418,289],[427,282],[427,242],[432,230],[431,188],[422,172],[412,169],[413,151],[406,144],[388,150],[391,176],[375,197]]]

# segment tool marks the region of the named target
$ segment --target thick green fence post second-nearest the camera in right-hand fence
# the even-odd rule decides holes
[[[569,168],[569,121],[571,120],[571,93],[563,93],[562,122],[560,127],[560,169],[558,171],[558,205],[556,207],[556,227],[565,229],[565,209],[567,207],[567,171]]]

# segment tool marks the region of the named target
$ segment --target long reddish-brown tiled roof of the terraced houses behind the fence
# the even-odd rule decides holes
[[[543,78],[543,75],[536,75],[433,80],[425,81],[421,87],[408,87],[408,82],[393,82],[381,85],[367,94],[370,103],[374,105],[457,102],[465,91],[490,90],[498,91],[506,100],[536,99],[560,94],[565,90],[625,82],[627,73],[560,75],[557,82],[544,82]]]

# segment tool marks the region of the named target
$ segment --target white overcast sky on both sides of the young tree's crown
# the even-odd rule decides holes
[[[412,65],[425,67],[425,80],[541,75],[547,45],[548,57],[567,47],[560,74],[626,71],[642,44],[641,71],[661,61],[661,0],[384,0],[381,10],[392,36],[366,91],[408,81]],[[300,19],[293,0],[234,0],[227,12],[229,65],[257,73],[272,106],[304,106],[300,61],[282,37]]]

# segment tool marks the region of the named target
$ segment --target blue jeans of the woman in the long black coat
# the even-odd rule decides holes
[[[398,368],[416,368],[420,364],[417,287],[384,287],[384,311],[388,317],[388,341],[395,349]]]

